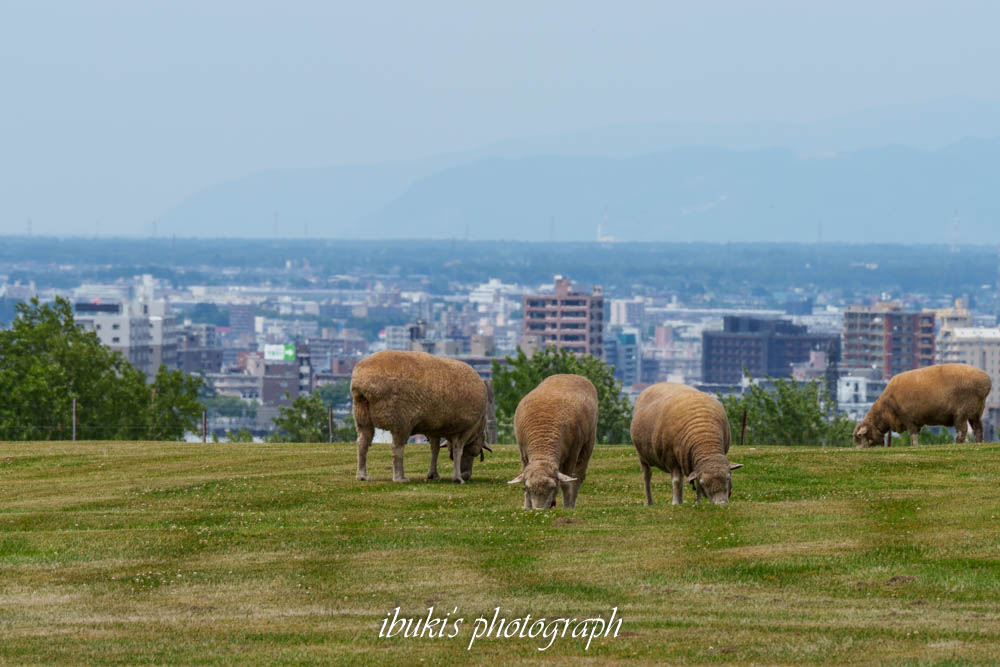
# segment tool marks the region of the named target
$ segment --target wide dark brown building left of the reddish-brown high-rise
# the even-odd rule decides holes
[[[722,331],[702,333],[702,382],[739,384],[744,370],[756,378],[791,377],[793,364],[808,362],[815,350],[835,366],[840,337],[809,333],[789,320],[727,315]]]

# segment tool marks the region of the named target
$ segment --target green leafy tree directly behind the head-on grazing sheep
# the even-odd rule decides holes
[[[530,358],[518,347],[517,354],[507,357],[506,363],[493,362],[493,392],[501,441],[513,442],[514,411],[524,395],[545,378],[558,373],[583,375],[594,383],[598,403],[598,442],[631,442],[629,425],[632,405],[622,395],[622,385],[615,379],[614,369],[596,357],[578,357],[555,347],[538,350]]]

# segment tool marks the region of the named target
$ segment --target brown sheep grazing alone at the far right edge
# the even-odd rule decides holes
[[[917,444],[923,426],[954,426],[955,442],[965,442],[969,425],[983,441],[983,408],[990,376],[965,364],[940,364],[893,377],[865,418],[854,428],[854,444],[889,444],[892,432],[908,431]]]

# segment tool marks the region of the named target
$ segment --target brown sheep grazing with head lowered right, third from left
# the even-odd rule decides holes
[[[715,505],[725,505],[733,492],[729,419],[719,401],[682,384],[660,382],[645,389],[635,401],[632,442],[639,453],[646,505],[653,504],[649,482],[653,466],[669,471],[673,504],[680,505],[685,480]]]

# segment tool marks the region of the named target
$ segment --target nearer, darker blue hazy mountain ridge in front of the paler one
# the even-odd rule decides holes
[[[685,148],[487,159],[421,180],[359,232],[524,240],[1000,241],[1000,141],[833,157]],[[467,227],[468,226],[468,227]],[[822,226],[822,232],[820,227]]]

